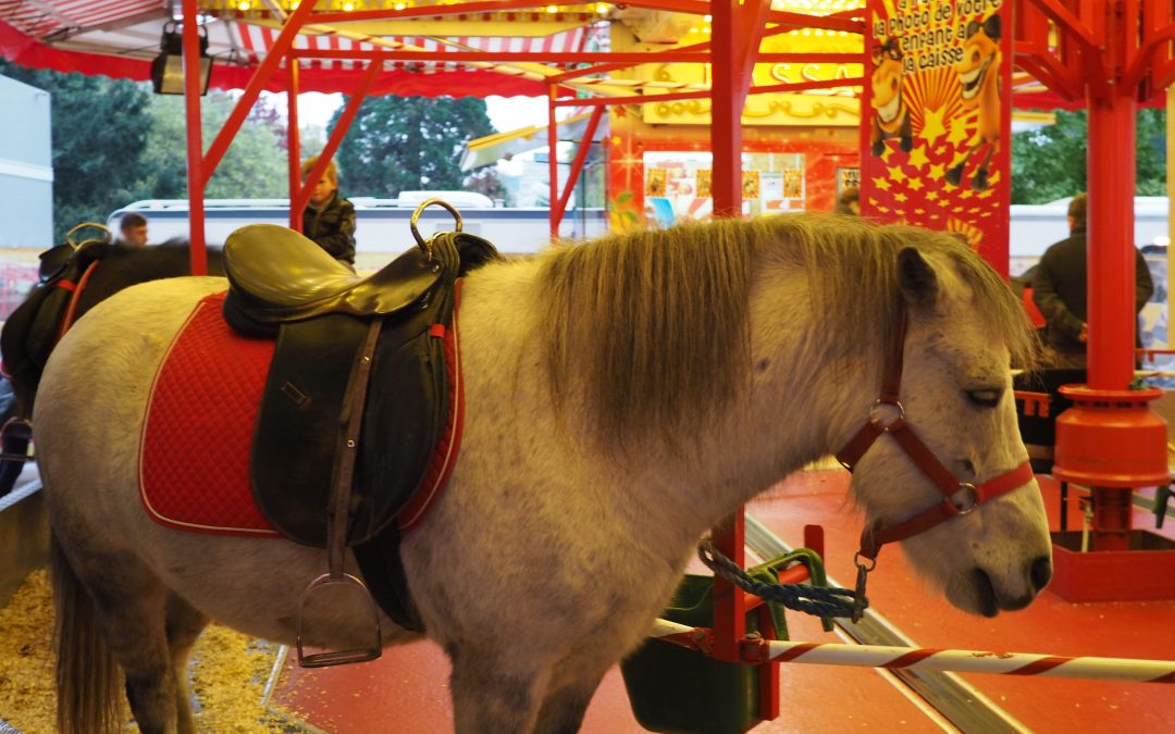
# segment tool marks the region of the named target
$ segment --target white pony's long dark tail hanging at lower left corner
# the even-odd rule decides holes
[[[89,593],[56,536],[49,538],[56,652],[58,732],[114,734],[122,728],[122,673],[106,647]]]

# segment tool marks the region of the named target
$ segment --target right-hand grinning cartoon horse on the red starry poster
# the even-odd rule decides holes
[[[966,153],[955,159],[956,162],[947,169],[947,182],[959,186],[962,181],[964,167],[985,147],[987,151],[975,175],[972,188],[982,191],[987,188],[987,167],[995,154],[1000,139],[1000,16],[992,15],[982,23],[967,23],[967,40],[962,46],[962,61],[955,65],[959,82],[962,85],[960,99],[964,109],[978,112],[975,134],[967,144]]]

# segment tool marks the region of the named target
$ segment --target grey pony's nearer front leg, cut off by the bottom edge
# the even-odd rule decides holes
[[[519,645],[525,645],[519,640]],[[517,669],[516,660],[472,646],[449,647],[457,734],[531,732],[538,715],[542,674]]]

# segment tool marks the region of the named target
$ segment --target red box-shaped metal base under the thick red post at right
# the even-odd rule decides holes
[[[1175,599],[1175,540],[1144,530],[1121,551],[1081,552],[1081,532],[1053,533],[1053,581],[1066,601]]]

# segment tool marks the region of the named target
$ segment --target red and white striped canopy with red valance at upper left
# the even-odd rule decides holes
[[[278,21],[267,8],[288,4],[257,0],[249,5],[254,8],[242,12],[240,2],[201,2],[200,21],[214,60],[214,87],[244,87],[277,38]],[[446,4],[445,9],[451,11],[448,7],[451,5]],[[163,27],[177,15],[179,2],[172,0],[0,0],[0,56],[59,72],[146,80],[150,60],[160,53]],[[340,23],[328,28],[314,26],[311,20],[310,28],[303,29],[294,47],[301,52],[372,53],[382,48],[454,54],[452,62],[385,61],[384,73],[370,94],[540,96],[546,94],[546,86],[535,74],[523,73],[518,65],[469,65],[456,59],[468,50],[575,53],[588,48],[593,40],[606,45],[599,16],[588,12],[477,13],[449,16],[443,27],[432,21],[439,19]],[[468,35],[452,35],[455,26]],[[517,35],[502,35],[503,27],[516,28]],[[491,28],[495,35],[477,35]],[[300,89],[350,92],[368,63],[363,59],[303,56]],[[286,74],[274,74],[267,88],[281,92],[286,79]]]

